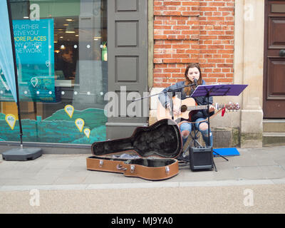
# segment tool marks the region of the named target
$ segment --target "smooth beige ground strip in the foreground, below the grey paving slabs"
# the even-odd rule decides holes
[[[172,184],[174,184],[173,182]],[[78,187],[75,185],[74,187]],[[80,185],[81,186],[81,185]],[[120,185],[121,186],[121,185]],[[248,193],[252,200],[248,201]],[[284,213],[285,185],[137,187],[5,191],[0,213],[214,214]]]

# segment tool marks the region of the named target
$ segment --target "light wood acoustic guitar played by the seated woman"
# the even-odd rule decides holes
[[[186,98],[184,100],[180,100],[180,98],[173,97],[173,106],[177,105],[180,107],[180,113],[178,115],[173,115],[173,119],[185,119],[185,120],[191,120],[192,115],[197,112],[197,110],[207,109],[208,105],[197,105],[194,98]],[[238,103],[228,103],[228,104],[214,104],[214,107],[216,110],[219,110],[221,108],[226,108],[227,110],[239,110],[239,104]],[[168,108],[165,108],[162,106],[160,101],[158,101],[157,104],[157,113],[156,113],[157,120],[162,119],[172,119],[171,112]]]

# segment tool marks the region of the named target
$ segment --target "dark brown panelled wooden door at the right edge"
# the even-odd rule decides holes
[[[285,1],[266,1],[264,118],[285,118]]]

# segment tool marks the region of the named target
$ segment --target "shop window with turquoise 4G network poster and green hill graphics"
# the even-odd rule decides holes
[[[24,142],[105,140],[107,0],[12,1]],[[19,141],[16,103],[0,69],[0,140]]]

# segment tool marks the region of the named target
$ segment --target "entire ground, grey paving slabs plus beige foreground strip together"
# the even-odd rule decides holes
[[[214,157],[217,172],[185,166],[161,181],[86,170],[91,154],[0,156],[0,213],[283,214],[285,146],[237,150]]]

